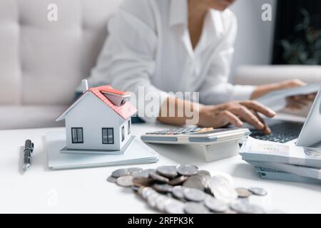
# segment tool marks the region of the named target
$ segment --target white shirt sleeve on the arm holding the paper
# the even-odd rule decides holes
[[[204,105],[216,105],[230,100],[250,100],[255,89],[254,86],[233,86],[228,83],[237,35],[237,21],[232,12],[230,21],[230,26],[225,29],[211,56],[208,76],[200,87],[200,103]]]

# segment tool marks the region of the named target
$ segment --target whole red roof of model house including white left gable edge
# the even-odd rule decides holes
[[[81,100],[85,97],[85,95],[88,92],[91,92],[94,95],[96,95],[97,98],[102,100],[103,103],[106,103],[106,105],[108,105],[111,109],[113,109],[116,113],[118,113],[118,115],[120,115],[125,120],[127,120],[137,112],[136,108],[131,104],[131,102],[126,102],[121,106],[117,106],[117,105],[114,105],[110,100],[108,100],[108,98],[106,98],[106,96],[103,95],[102,93],[102,92],[107,92],[107,93],[114,93],[117,95],[124,95],[126,92],[116,90],[111,86],[99,86],[99,87],[89,88],[86,91],[86,93],[83,93],[83,95],[81,95],[81,97],[78,98],[78,100],[76,100],[75,103],[73,103],[73,105],[71,105],[67,110],[65,110],[61,115],[59,115],[58,118],[56,118],[56,121],[62,120],[64,116],[71,109],[73,109],[73,107],[75,107],[79,102],[81,102]]]

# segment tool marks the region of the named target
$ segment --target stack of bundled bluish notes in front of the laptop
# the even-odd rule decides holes
[[[275,180],[285,180],[288,177],[289,181],[298,182],[321,180],[321,150],[317,148],[296,147],[248,138],[248,141],[243,143],[240,155],[250,165],[257,167],[257,171],[269,170],[267,175],[270,179],[274,177]]]

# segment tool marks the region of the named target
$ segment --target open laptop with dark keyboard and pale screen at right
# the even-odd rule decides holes
[[[300,147],[321,146],[321,89],[310,109],[305,123],[287,120],[267,119],[266,123],[272,134],[263,135],[259,130],[250,127],[250,136],[258,140],[267,140],[281,143],[296,143]]]

